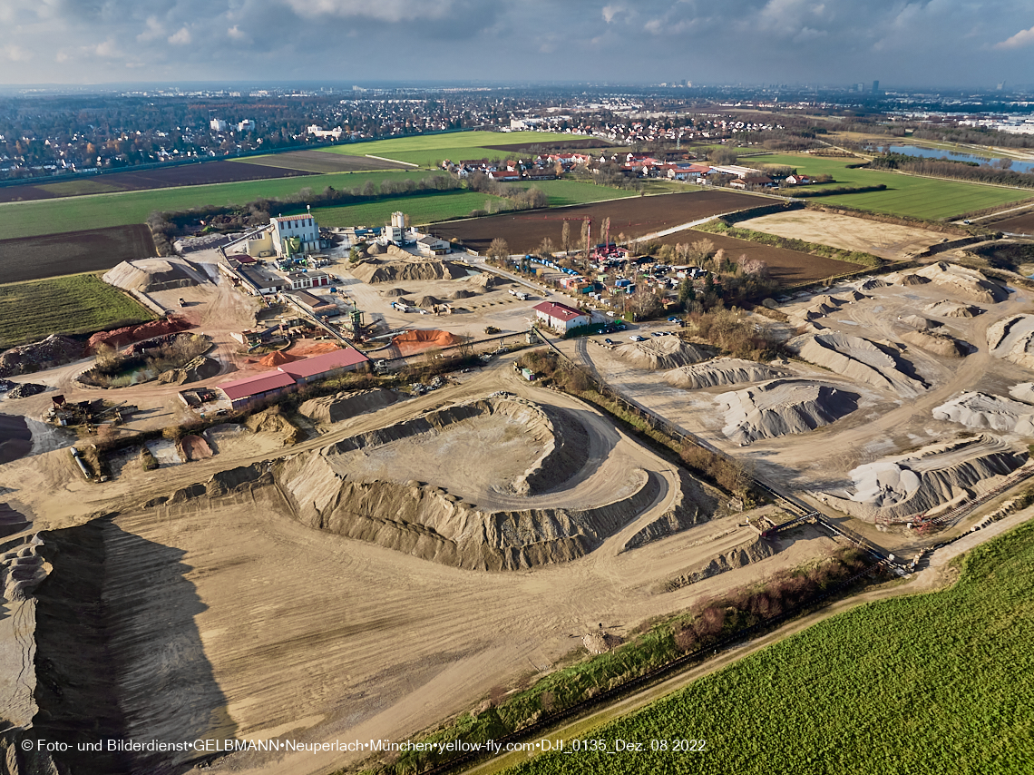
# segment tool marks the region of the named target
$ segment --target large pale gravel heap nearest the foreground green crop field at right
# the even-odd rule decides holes
[[[864,519],[901,519],[986,493],[1026,460],[1026,452],[990,436],[931,444],[859,466],[852,489],[821,499]]]

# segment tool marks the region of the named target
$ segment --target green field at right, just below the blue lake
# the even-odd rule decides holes
[[[848,163],[857,163],[858,161],[860,159],[771,154],[770,156],[746,158],[737,163],[743,163],[748,167],[751,163],[787,165],[797,168],[804,175],[825,173],[832,175],[837,181],[831,185],[860,186],[883,183],[887,186],[885,191],[819,197],[812,201],[818,204],[845,205],[862,210],[885,212],[892,215],[909,215],[914,218],[929,218],[931,220],[950,218],[971,210],[1017,202],[1029,199],[1032,193],[1030,189],[1001,188],[966,183],[960,180],[920,178],[880,170],[847,169]],[[822,186],[810,187],[821,189]]]

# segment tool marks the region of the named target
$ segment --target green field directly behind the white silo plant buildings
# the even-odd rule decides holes
[[[436,220],[466,217],[472,210],[485,207],[486,202],[503,203],[499,197],[474,191],[428,191],[408,197],[392,197],[377,202],[342,207],[316,207],[312,215],[320,226],[382,226],[391,219],[391,214],[401,210],[409,216],[414,226],[431,223]],[[284,214],[290,214],[284,211]]]

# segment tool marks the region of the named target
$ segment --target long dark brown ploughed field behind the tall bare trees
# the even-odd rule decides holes
[[[764,203],[763,200],[747,193],[702,190],[657,197],[631,197],[590,205],[490,215],[437,223],[431,231],[442,239],[456,237],[462,240],[464,247],[478,252],[485,252],[496,237],[507,241],[511,252],[529,252],[536,249],[545,237],[549,237],[559,249],[560,234],[566,221],[571,223],[573,240],[578,239],[582,221],[589,218],[592,221],[592,239],[599,241],[600,225],[608,217],[611,239],[616,239],[619,234],[624,234],[628,239],[635,239],[709,215],[757,207]]]

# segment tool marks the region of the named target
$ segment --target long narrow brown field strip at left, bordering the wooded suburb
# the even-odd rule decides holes
[[[376,169],[385,169],[384,167]],[[234,183],[245,180],[267,180],[269,178],[291,178],[311,175],[311,172],[297,169],[280,169],[272,166],[238,165],[232,161],[208,161],[201,165],[159,168],[141,172],[117,172],[89,178],[75,178],[53,183],[39,182],[35,185],[14,185],[0,188],[0,202],[24,202],[60,197],[80,197],[87,193],[107,191],[143,191],[152,188],[176,188],[182,185],[206,185],[208,183]]]

